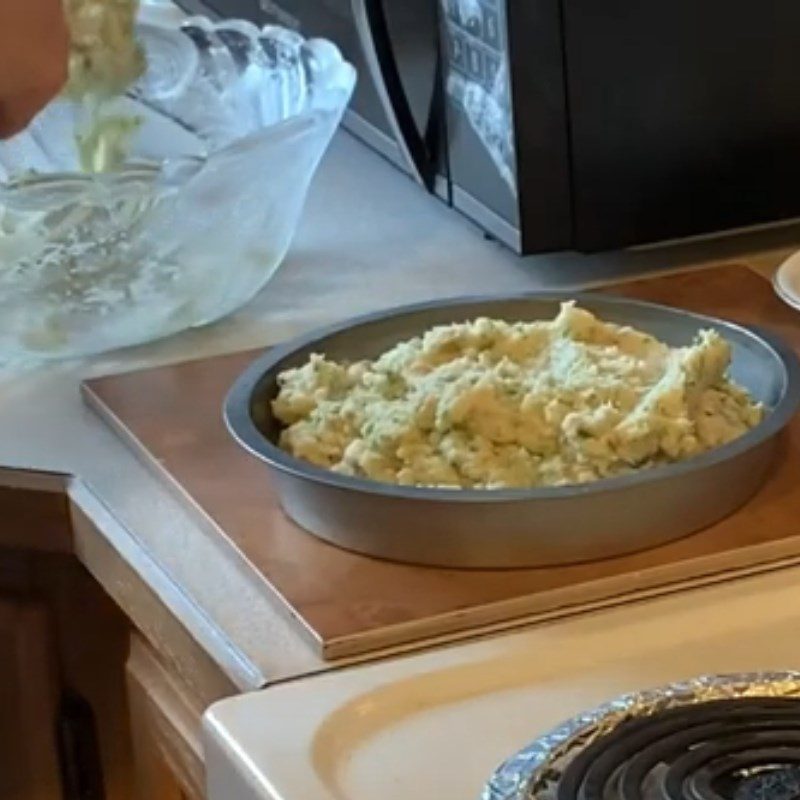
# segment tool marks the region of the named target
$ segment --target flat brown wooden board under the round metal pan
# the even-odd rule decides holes
[[[800,316],[744,267],[673,274],[610,291],[767,325],[800,349]],[[283,515],[266,469],[224,427],[223,397],[256,355],[102,377],[84,385],[84,396],[209,523],[203,529],[238,551],[263,591],[325,658],[455,638],[800,561],[800,418],[784,437],[768,483],[747,506],[647,552],[568,567],[459,571],[339,550]]]

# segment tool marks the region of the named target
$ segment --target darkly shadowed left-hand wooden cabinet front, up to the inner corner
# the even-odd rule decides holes
[[[0,549],[2,800],[133,800],[128,635],[74,557]]]

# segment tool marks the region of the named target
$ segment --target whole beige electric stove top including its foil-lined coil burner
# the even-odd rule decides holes
[[[798,598],[792,568],[225,700],[209,797],[800,800]]]

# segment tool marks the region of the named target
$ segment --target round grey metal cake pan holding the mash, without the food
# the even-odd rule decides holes
[[[271,400],[278,375],[312,353],[373,358],[434,325],[485,316],[552,319],[575,300],[601,319],[630,325],[672,346],[702,328],[733,351],[731,375],[767,408],[756,428],[730,444],[667,466],[594,483],[514,490],[421,489],[338,475],[277,445]],[[431,566],[513,568],[609,558],[705,528],[736,511],[761,487],[778,434],[800,403],[800,364],[761,330],[665,306],[592,293],[538,293],[426,303],[316,331],[257,359],[235,382],[224,408],[233,436],[271,472],[281,506],[298,525],[378,558]]]

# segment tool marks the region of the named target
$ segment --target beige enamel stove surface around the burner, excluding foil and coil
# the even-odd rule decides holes
[[[206,717],[210,800],[465,800],[573,714],[700,674],[800,668],[800,569],[331,673]]]

